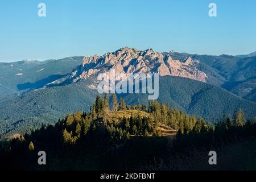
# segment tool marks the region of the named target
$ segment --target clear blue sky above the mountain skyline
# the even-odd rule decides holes
[[[46,3],[46,18],[38,4]],[[210,2],[217,17],[208,16]],[[0,61],[102,55],[121,47],[210,55],[256,51],[254,0],[2,0]]]

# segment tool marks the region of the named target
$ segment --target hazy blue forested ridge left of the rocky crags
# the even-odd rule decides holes
[[[60,60],[0,63],[0,102],[11,94],[21,94],[64,77],[82,63],[83,57]]]

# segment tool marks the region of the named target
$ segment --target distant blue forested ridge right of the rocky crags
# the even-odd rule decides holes
[[[200,61],[199,70],[205,72],[210,84],[221,86],[247,100],[256,101],[256,57],[255,56],[209,56],[187,53],[171,54],[174,59],[182,60],[187,56]]]

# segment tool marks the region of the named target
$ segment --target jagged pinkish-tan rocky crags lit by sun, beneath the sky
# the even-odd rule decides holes
[[[187,57],[184,60],[172,59],[171,53],[163,55],[152,49],[139,51],[137,48],[121,48],[103,56],[84,57],[82,65],[75,69],[69,79],[72,82],[86,80],[99,73],[159,73],[160,76],[179,76],[207,82],[207,75],[197,69],[198,60]]]

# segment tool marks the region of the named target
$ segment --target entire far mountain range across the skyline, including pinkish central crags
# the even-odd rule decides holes
[[[159,53],[152,49],[138,51],[129,47],[102,56],[0,63],[0,98],[5,101],[14,94],[70,84],[108,72],[110,68],[117,73],[151,72],[161,76],[192,78],[221,86],[256,102],[256,57],[193,55],[174,51]],[[96,84],[94,82],[90,88],[96,88]]]

